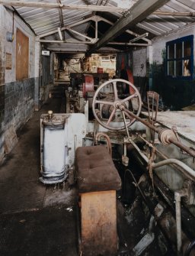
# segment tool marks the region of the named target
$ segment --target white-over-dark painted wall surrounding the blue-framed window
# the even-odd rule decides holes
[[[195,79],[171,79],[165,76],[166,43],[194,33],[195,26],[190,25],[164,37],[155,37],[152,47],[148,48],[149,89],[159,93],[161,107],[165,109],[179,110],[195,102]]]

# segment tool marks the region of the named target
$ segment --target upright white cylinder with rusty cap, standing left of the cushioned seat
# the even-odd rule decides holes
[[[62,115],[44,116],[42,121],[42,170],[40,181],[46,184],[66,180],[66,118]]]

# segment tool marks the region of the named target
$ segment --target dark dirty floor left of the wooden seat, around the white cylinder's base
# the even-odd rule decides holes
[[[40,183],[40,115],[59,112],[50,100],[18,131],[0,166],[0,255],[78,255],[76,190]]]

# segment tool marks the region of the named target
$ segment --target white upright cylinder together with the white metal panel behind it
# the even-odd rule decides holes
[[[77,129],[79,127],[79,131]],[[76,147],[82,146],[86,125],[83,114],[43,114],[40,117],[40,181],[63,182],[75,160]]]

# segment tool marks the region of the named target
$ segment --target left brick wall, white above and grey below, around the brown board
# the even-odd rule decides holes
[[[12,32],[13,29],[12,22],[12,11],[0,5],[0,160],[5,154],[5,133],[9,128],[16,131],[34,112],[35,36],[33,31],[14,14],[14,41],[7,41],[7,32]],[[17,28],[29,38],[28,77],[18,81],[15,38]],[[8,58],[6,59],[8,55],[11,57],[9,69]]]

